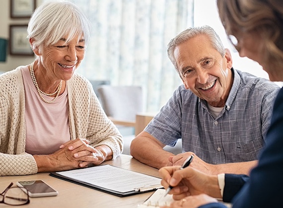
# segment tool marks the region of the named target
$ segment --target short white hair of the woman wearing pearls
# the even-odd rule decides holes
[[[33,12],[27,33],[27,38],[33,38],[34,46],[39,50],[43,46],[57,43],[63,36],[67,42],[76,36],[83,36],[87,44],[90,36],[90,21],[71,2],[46,2]]]

